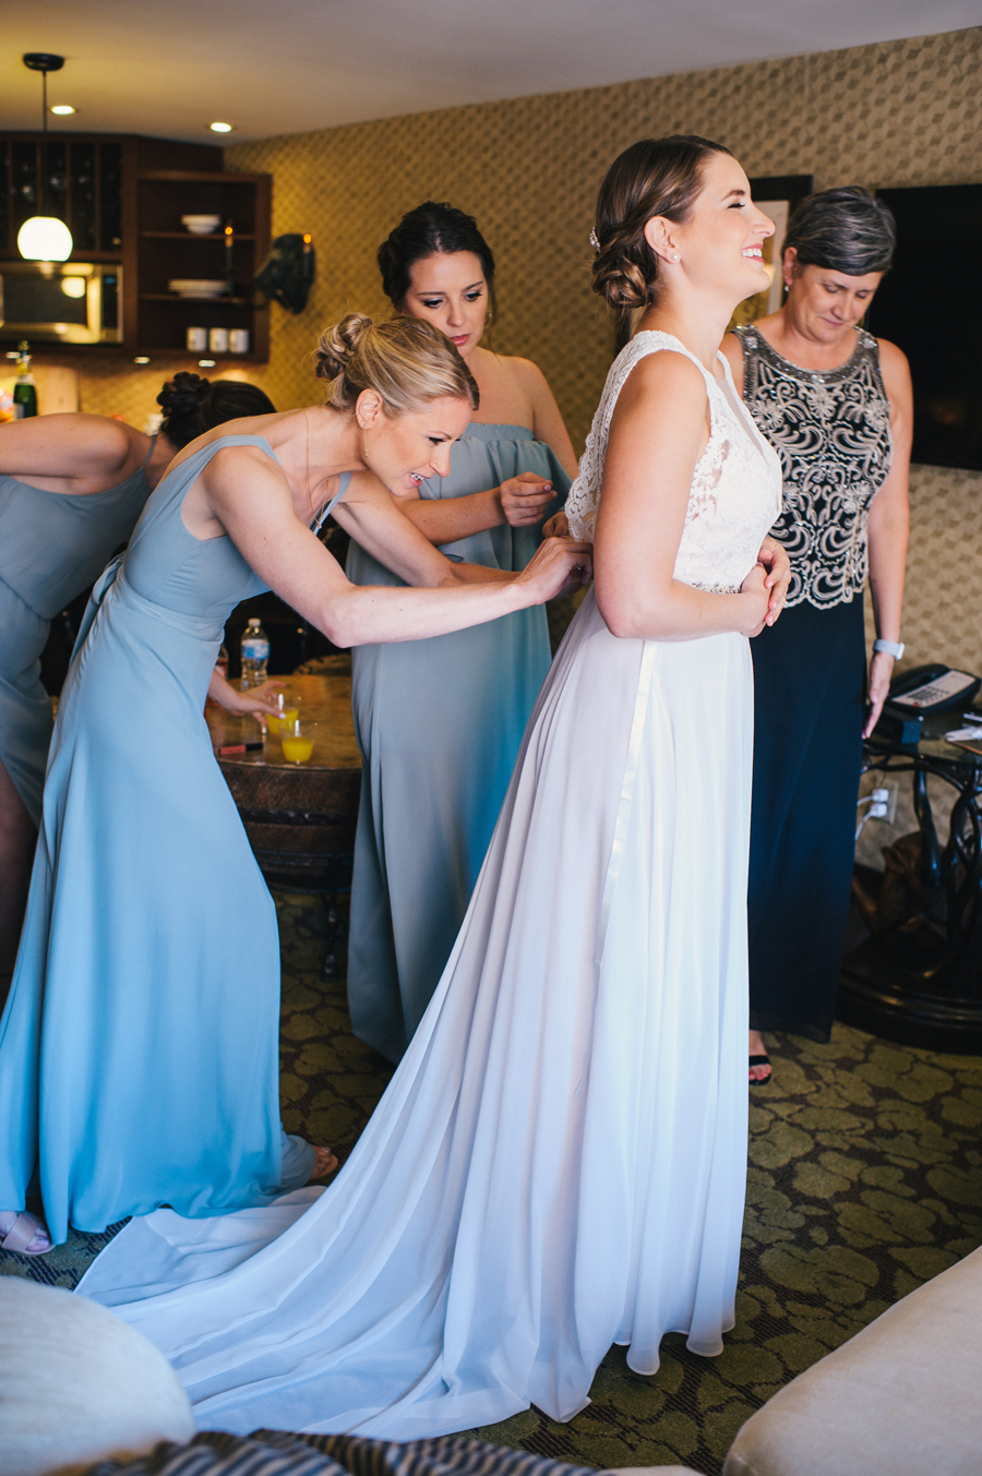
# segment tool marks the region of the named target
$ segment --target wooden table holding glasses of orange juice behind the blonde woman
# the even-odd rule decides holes
[[[216,748],[263,742],[261,748],[217,754],[245,834],[266,880],[323,892],[328,908],[325,974],[337,979],[337,894],[351,883],[354,828],[362,791],[362,756],[354,741],[350,676],[286,676],[284,689],[300,698],[300,716],[317,723],[307,763],[284,759],[279,738],[254,717],[208,707]]]

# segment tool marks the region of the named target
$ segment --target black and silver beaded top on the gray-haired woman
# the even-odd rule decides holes
[[[870,503],[893,450],[876,338],[858,329],[852,357],[820,373],[781,357],[753,323],[737,335],[747,409],[781,458],[772,531],[792,559],[787,604],[848,604],[867,580]]]

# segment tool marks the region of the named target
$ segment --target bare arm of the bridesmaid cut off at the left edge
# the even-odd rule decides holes
[[[105,415],[32,416],[0,425],[0,472],[43,492],[105,492],[136,471],[149,441]]]

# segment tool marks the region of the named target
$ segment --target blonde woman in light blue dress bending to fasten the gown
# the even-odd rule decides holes
[[[523,576],[480,583],[382,487],[363,503],[374,546],[440,587],[354,589],[312,525],[366,450],[393,492],[446,474],[478,394],[453,345],[408,319],[351,314],[319,365],[328,404],[235,421],[171,462],[62,691],[0,1021],[0,1207],[40,1193],[55,1241],[158,1204],[269,1204],[332,1166],[281,1129],[276,911],[204,719],[210,686],[227,698],[230,610],[272,587],[338,645],[425,638],[589,568],[583,545],[554,540]],[[121,720],[136,713],[154,720]]]

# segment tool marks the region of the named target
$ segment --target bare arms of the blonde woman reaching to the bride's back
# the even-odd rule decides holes
[[[440,587],[357,587],[310,528],[297,520],[286,478],[258,447],[217,452],[199,484],[211,515],[250,567],[338,646],[421,641],[483,624],[551,599],[567,584],[574,587],[589,571],[585,545],[549,540],[521,574],[462,584],[459,565],[443,559],[391,506],[391,518],[397,521],[388,539],[377,539],[375,549],[390,568],[400,565],[396,573],[402,577],[418,579],[424,568],[439,567]],[[362,523],[365,536],[365,520]],[[428,561],[439,561],[439,565]],[[582,574],[576,573],[577,565]]]

